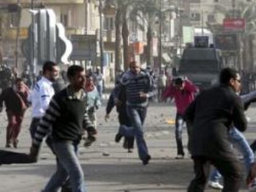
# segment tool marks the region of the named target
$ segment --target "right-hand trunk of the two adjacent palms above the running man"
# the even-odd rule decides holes
[[[129,28],[127,25],[126,11],[127,10],[124,10],[124,12],[122,13],[122,44],[124,47],[124,70],[129,69]]]

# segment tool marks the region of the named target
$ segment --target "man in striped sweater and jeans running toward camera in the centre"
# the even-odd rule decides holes
[[[127,114],[132,127],[121,126],[116,135],[116,141],[119,141],[122,136],[135,136],[139,157],[143,165],[147,165],[151,157],[143,138],[143,123],[147,114],[148,98],[156,95],[156,86],[153,78],[147,72],[142,71],[137,62],[130,62],[130,70],[122,75],[120,86],[124,86],[126,90]],[[114,99],[116,104],[120,102],[118,94],[114,94]]]

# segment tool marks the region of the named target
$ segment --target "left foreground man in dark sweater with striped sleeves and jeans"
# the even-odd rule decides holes
[[[41,142],[50,131],[52,147],[59,163],[56,173],[51,177],[43,192],[58,191],[68,177],[72,191],[86,191],[83,170],[77,156],[78,145],[82,138],[83,128],[94,130],[94,127],[86,113],[83,67],[72,65],[67,71],[67,77],[70,85],[51,99],[36,129],[30,149],[30,156],[38,159]]]

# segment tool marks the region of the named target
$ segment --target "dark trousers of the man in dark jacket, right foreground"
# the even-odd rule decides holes
[[[208,159],[207,157],[194,157],[195,178],[190,182],[188,192],[201,192],[205,190],[207,185],[210,165],[214,165],[223,176],[224,188],[223,192],[239,191],[242,181],[242,165],[236,160],[217,160]]]

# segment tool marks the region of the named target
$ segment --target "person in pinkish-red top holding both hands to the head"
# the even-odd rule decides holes
[[[184,113],[189,104],[192,101],[194,101],[195,93],[197,93],[198,91],[199,90],[197,86],[193,85],[193,83],[190,80],[184,77],[177,77],[176,79],[174,79],[174,82],[163,93],[163,99],[174,98],[177,109],[175,120],[175,136],[177,143],[176,159],[183,159],[185,155],[182,144],[182,129],[185,123]]]

